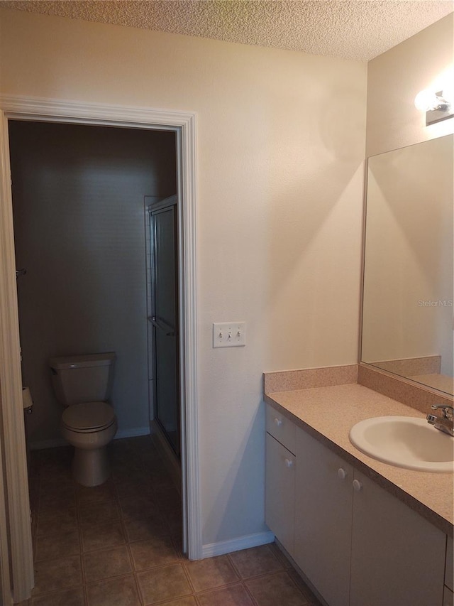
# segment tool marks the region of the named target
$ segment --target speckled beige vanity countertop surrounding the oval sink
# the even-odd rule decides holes
[[[265,394],[265,401],[345,458],[434,526],[453,536],[454,474],[407,470],[368,457],[350,443],[350,428],[365,418],[423,413],[360,384]],[[454,448],[454,443],[453,443]]]

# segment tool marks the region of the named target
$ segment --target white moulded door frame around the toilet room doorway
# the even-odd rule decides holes
[[[0,438],[4,450],[9,566],[14,601],[20,602],[30,595],[33,587],[33,555],[23,431],[9,119],[175,131],[179,198],[183,543],[189,559],[198,560],[202,557],[202,544],[197,431],[196,114],[148,107],[0,96],[0,421],[3,422]],[[0,516],[0,526],[3,526],[1,522]],[[2,536],[6,530],[0,527]],[[1,565],[3,568],[5,562],[1,561]]]

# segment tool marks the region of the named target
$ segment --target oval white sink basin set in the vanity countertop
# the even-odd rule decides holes
[[[454,471],[454,438],[411,416],[378,416],[356,423],[350,442],[365,455],[406,469]]]

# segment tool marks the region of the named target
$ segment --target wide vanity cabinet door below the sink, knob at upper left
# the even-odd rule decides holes
[[[445,535],[355,471],[350,606],[439,606]]]

